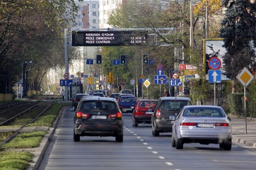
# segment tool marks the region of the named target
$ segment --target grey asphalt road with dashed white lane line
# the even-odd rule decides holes
[[[38,170],[254,170],[255,149],[232,143],[184,144],[171,147],[171,133],[153,137],[151,124],[132,126],[131,113],[124,114],[124,142],[114,137],[81,137],[73,141],[73,113],[66,109]]]

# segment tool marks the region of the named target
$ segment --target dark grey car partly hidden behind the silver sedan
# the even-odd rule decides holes
[[[162,97],[159,98],[154,113],[151,117],[152,135],[172,132],[172,125],[180,110],[187,105],[192,105],[190,98],[185,97]]]

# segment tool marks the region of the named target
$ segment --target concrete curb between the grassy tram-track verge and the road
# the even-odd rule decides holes
[[[44,153],[52,139],[52,135],[54,134],[55,129],[58,125],[58,121],[60,120],[62,112],[64,111],[64,109],[66,109],[66,107],[69,107],[69,106],[62,107],[62,109],[60,110],[58,117],[56,118],[56,121],[54,122],[54,126],[48,130],[48,132],[50,132],[50,133],[47,133],[44,136],[44,138],[42,139],[42,141],[40,143],[40,146],[34,151],[34,158],[32,160],[33,162],[30,162],[30,166],[28,166],[28,168],[26,168],[26,170],[37,170],[38,169],[38,167],[41,163],[41,160],[44,156]]]

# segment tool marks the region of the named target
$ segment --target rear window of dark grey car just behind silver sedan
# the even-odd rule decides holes
[[[187,100],[164,100],[161,105],[161,110],[178,110],[180,111],[184,106],[188,105]]]

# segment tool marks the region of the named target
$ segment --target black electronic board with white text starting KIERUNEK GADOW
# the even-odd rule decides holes
[[[146,31],[72,31],[72,46],[147,45]]]

